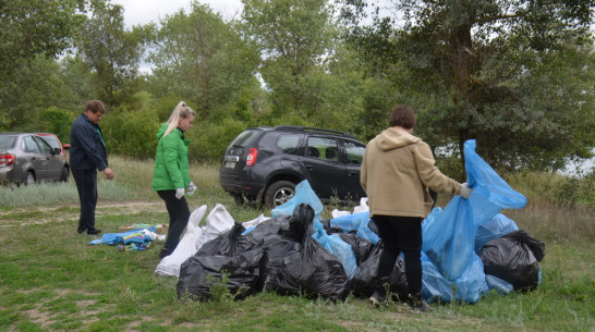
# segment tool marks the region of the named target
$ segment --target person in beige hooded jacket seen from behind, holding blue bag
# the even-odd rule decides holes
[[[366,192],[369,217],[378,228],[384,250],[378,262],[375,292],[369,300],[379,307],[386,302],[384,284],[388,282],[397,257],[405,257],[409,304],[418,311],[430,311],[422,297],[422,221],[434,204],[428,188],[467,198],[466,183],[442,174],[435,165],[429,146],[413,136],[415,113],[397,106],[390,127],[373,138],[362,162],[361,184]]]

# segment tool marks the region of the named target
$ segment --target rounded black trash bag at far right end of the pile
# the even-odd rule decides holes
[[[539,262],[544,256],[545,244],[525,231],[491,239],[479,251],[486,274],[497,276],[523,292],[539,285]]]

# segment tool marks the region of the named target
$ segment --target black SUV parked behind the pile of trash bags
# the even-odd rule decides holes
[[[359,201],[366,196],[360,185],[365,149],[341,132],[292,125],[247,128],[226,150],[219,182],[239,205],[279,206],[303,180],[323,201]]]

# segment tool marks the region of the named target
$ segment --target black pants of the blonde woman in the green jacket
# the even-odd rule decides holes
[[[175,198],[175,190],[160,190],[157,195],[166,201],[166,208],[169,213],[169,230],[166,238],[166,245],[161,251],[161,256],[168,256],[180,243],[180,236],[184,232],[190,219],[190,209],[186,204],[186,198]]]

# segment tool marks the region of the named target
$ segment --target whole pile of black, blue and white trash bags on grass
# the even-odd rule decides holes
[[[541,283],[545,245],[500,213],[520,209],[526,198],[514,192],[465,143],[469,199],[456,196],[424,220],[423,296],[428,302],[476,303],[491,290],[507,294]],[[353,213],[333,211],[320,218],[323,205],[307,181],[295,196],[255,220],[236,223],[217,205],[198,223],[206,206],[195,210],[189,230],[156,273],[179,276],[180,298],[208,300],[216,283],[234,298],[263,291],[343,300],[350,293],[368,297],[382,242],[362,199]],[[335,217],[338,216],[338,217]],[[393,299],[406,296],[404,260],[399,257],[389,281]]]

